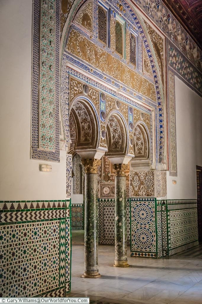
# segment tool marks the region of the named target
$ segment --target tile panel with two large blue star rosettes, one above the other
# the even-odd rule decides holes
[[[131,198],[131,256],[162,256],[160,206],[155,198]]]

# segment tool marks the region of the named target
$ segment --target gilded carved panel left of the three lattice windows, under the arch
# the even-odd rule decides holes
[[[93,2],[86,2],[76,15],[74,22],[84,26],[90,32],[93,30]]]

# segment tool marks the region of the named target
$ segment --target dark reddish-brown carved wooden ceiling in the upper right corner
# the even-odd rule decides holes
[[[202,0],[162,0],[202,49]]]

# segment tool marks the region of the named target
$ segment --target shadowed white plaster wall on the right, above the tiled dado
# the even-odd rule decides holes
[[[202,166],[202,98],[175,77],[175,101],[177,177],[167,172],[167,199],[196,199],[196,165]]]

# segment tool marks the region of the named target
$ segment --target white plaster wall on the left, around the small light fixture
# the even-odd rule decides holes
[[[30,159],[31,26],[31,0],[0,1],[0,200],[66,197],[66,152],[60,163]]]

